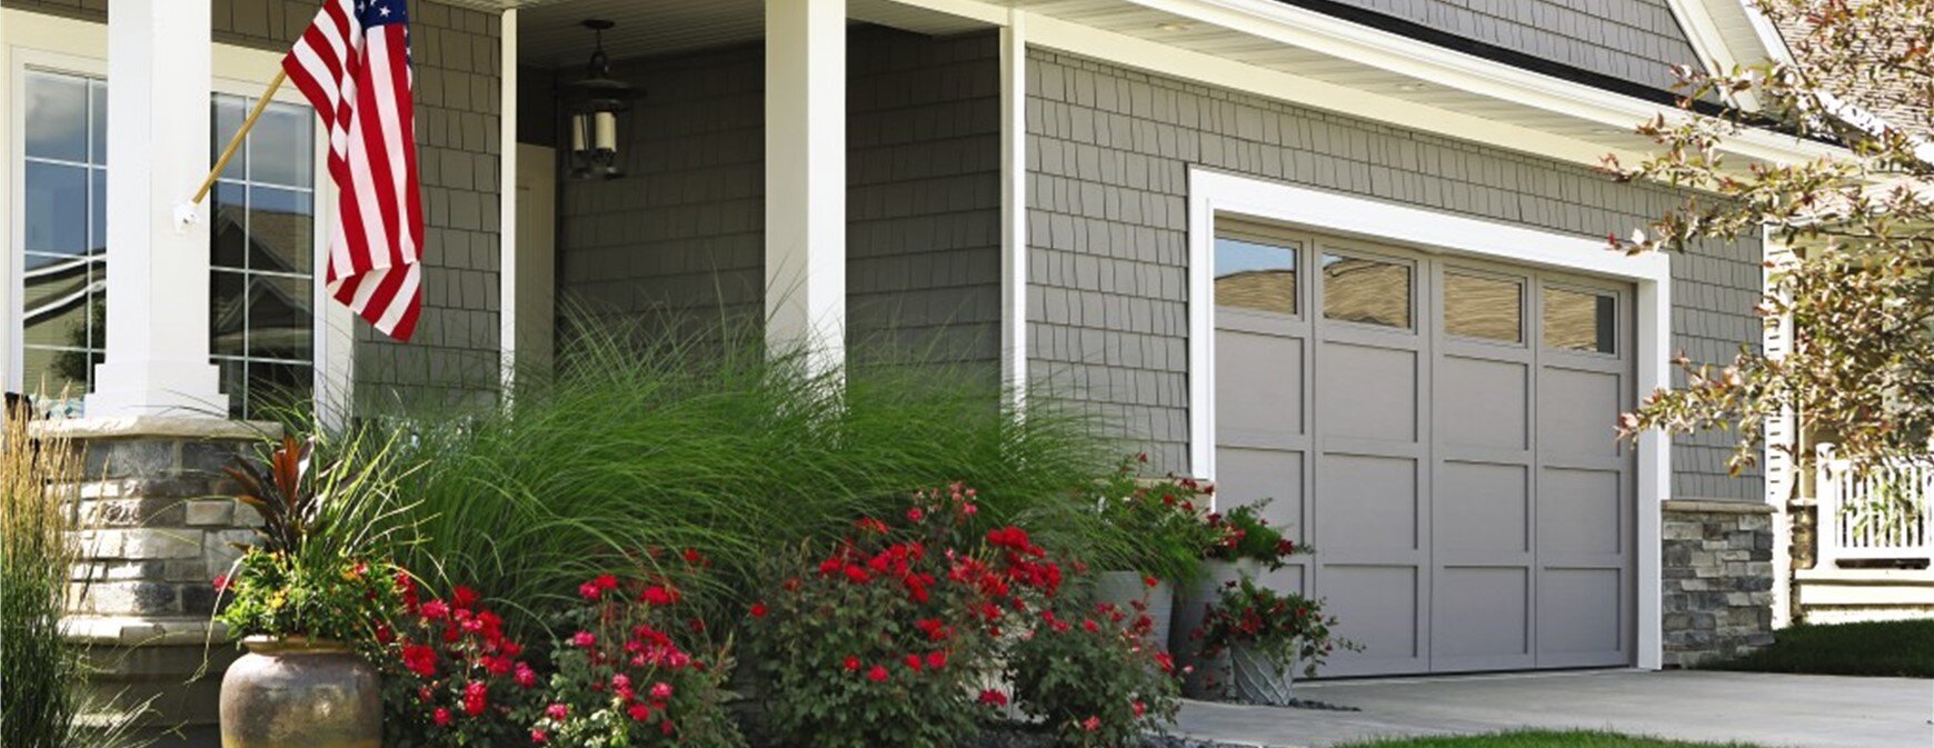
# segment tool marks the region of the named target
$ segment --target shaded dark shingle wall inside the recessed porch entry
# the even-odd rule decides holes
[[[1000,361],[1000,58],[992,35],[857,27],[847,305],[855,346]],[[561,290],[648,327],[764,311],[764,54],[629,60],[625,176],[563,184]]]

